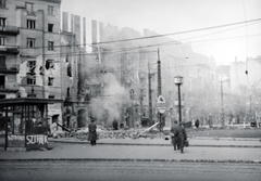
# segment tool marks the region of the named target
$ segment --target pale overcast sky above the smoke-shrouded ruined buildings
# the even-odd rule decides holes
[[[62,0],[62,12],[104,25],[172,34],[261,18],[261,0]],[[87,33],[87,36],[90,33]],[[261,21],[171,36],[216,64],[261,55]]]

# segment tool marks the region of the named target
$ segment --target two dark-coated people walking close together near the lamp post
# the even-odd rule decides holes
[[[187,133],[182,124],[177,124],[177,120],[174,121],[174,126],[171,128],[171,137],[174,151],[181,150],[181,153],[184,153],[185,142],[187,141]]]

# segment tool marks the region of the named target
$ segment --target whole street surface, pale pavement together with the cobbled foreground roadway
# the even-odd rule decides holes
[[[141,139],[99,140],[96,146],[60,140],[48,151],[0,151],[0,180],[261,181],[259,141],[191,142],[185,154],[170,141]]]

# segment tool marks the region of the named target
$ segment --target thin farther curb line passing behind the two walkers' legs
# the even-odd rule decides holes
[[[90,144],[89,142],[70,142],[70,141],[49,141],[52,143],[69,143],[69,144]],[[171,144],[151,144],[151,143],[97,143],[102,145],[138,145],[138,146],[172,146]],[[189,147],[249,147],[249,148],[261,148],[261,145],[209,145],[209,144],[190,144]]]

